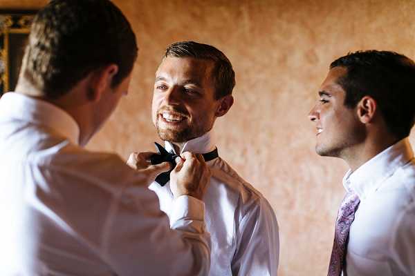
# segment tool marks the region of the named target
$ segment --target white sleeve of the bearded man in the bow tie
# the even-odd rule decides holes
[[[279,262],[279,230],[274,211],[264,198],[251,204],[237,229],[233,275],[275,276]]]

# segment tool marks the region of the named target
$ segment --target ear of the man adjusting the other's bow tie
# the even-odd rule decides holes
[[[104,91],[111,88],[113,77],[117,73],[118,66],[116,64],[110,64],[91,72],[88,99],[91,101],[99,101]]]

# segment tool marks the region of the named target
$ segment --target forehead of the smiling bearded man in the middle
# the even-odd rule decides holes
[[[156,77],[172,79],[212,79],[214,62],[209,59],[192,57],[166,57],[161,61]]]

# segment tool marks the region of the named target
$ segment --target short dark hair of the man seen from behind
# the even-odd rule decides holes
[[[111,1],[53,0],[32,23],[22,70],[46,98],[57,99],[111,63],[118,66],[111,86],[118,86],[137,51],[129,22]]]

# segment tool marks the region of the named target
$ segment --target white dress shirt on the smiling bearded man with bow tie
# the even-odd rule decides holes
[[[211,133],[187,141],[182,152],[207,153],[215,145]],[[169,142],[167,151],[174,152]],[[277,219],[268,201],[241,179],[223,159],[208,161],[212,178],[206,191],[206,227],[212,251],[210,275],[275,276],[279,262]],[[160,209],[169,217],[173,195],[169,183],[149,186],[160,199]]]

